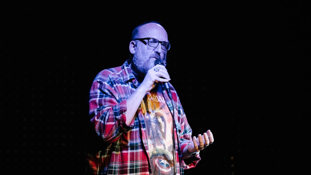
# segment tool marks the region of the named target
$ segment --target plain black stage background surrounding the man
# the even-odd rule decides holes
[[[0,174],[83,174],[92,80],[150,20],[193,135],[215,137],[185,174],[309,171],[309,2],[137,3],[1,3]]]

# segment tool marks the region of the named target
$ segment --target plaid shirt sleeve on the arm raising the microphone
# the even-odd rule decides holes
[[[101,71],[91,85],[89,95],[89,115],[97,135],[105,142],[118,139],[132,126],[126,124],[126,98],[129,90],[116,73]]]

